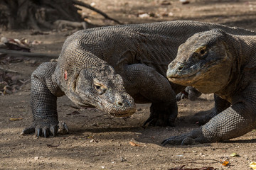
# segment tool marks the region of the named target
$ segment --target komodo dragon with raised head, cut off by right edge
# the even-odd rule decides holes
[[[239,137],[256,127],[256,36],[215,29],[196,33],[178,47],[167,77],[202,93],[215,94],[215,115],[208,123],[163,144],[189,145]]]

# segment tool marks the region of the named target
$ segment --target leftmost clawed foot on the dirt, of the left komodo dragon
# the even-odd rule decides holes
[[[57,121],[48,122],[46,120],[36,120],[33,121],[33,125],[28,128],[25,128],[21,135],[35,133],[36,137],[44,136],[48,137],[50,135],[56,136],[58,133],[58,129],[65,129],[68,132],[68,126],[65,123],[60,123],[58,125]]]

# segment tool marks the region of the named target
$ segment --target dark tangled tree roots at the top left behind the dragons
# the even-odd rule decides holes
[[[122,24],[99,9],[78,0],[8,0],[0,1],[0,27],[4,29],[32,28],[38,31],[43,28],[52,30],[53,23],[61,20],[58,27],[65,25],[74,28],[88,28],[87,25],[90,23],[86,23],[82,19],[78,13],[78,10],[81,9],[75,5],[89,8],[115,23]],[[92,27],[95,26],[92,25]]]

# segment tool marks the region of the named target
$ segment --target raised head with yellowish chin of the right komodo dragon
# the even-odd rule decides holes
[[[169,81],[194,86],[202,93],[215,93],[230,80],[233,65],[226,34],[220,30],[196,33],[178,47],[177,57],[169,64]]]

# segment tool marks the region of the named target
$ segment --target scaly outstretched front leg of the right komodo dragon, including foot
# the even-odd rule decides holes
[[[195,143],[218,142],[239,137],[256,126],[256,84],[234,97],[232,106],[212,118],[206,125],[183,135],[169,137],[163,145],[191,145]]]

